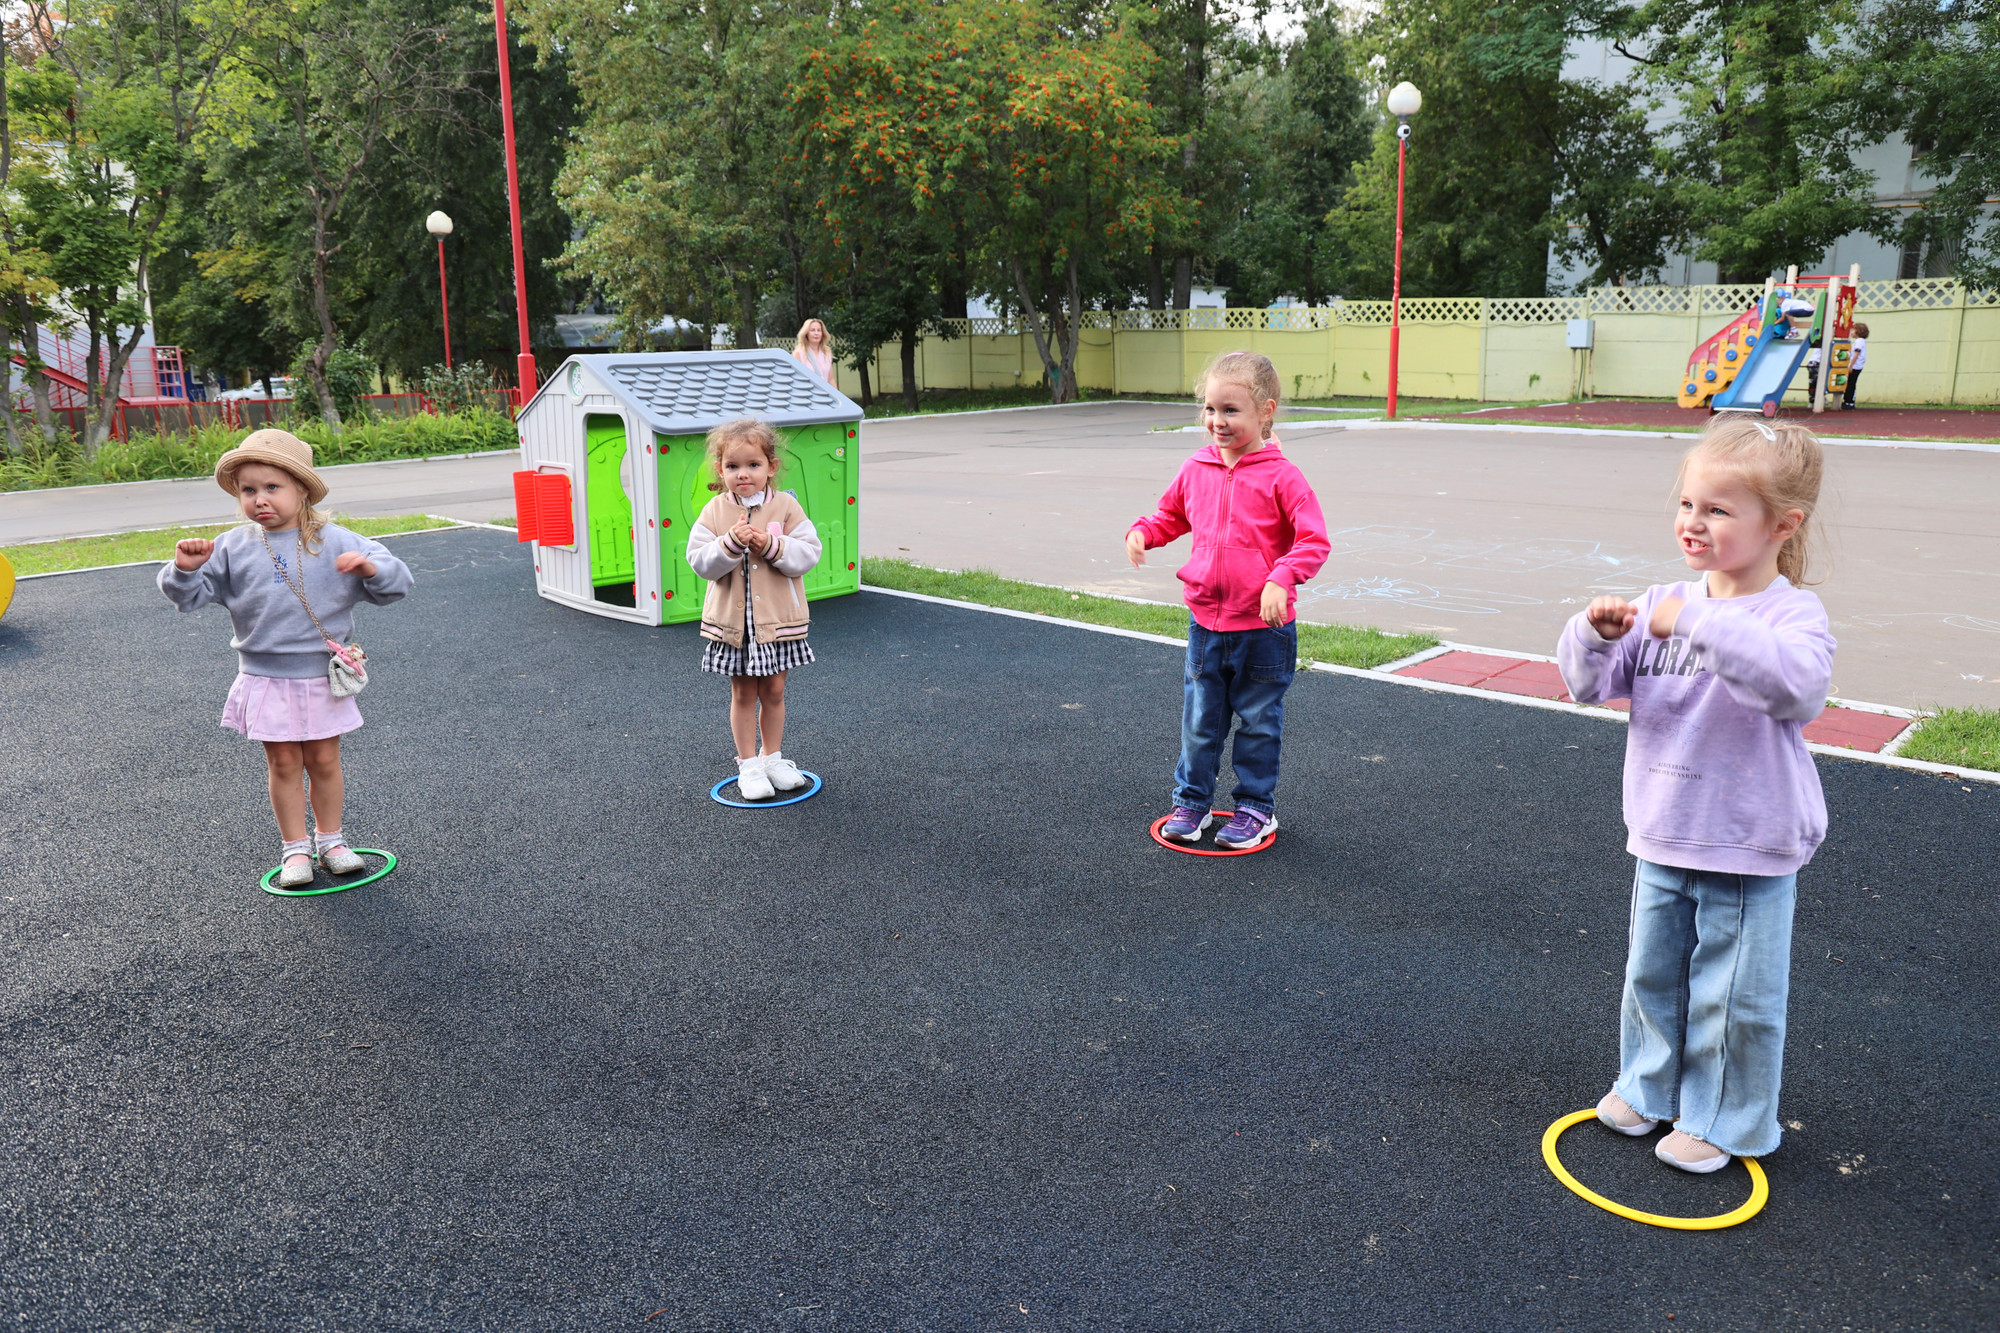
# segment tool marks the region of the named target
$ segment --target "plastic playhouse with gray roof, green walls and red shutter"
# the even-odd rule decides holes
[[[806,598],[860,590],[862,410],[766,348],[612,352],[556,368],[516,420],[514,512],[534,544],[536,592],[638,624],[698,620],[688,530],[714,496],[708,428],[736,416],[776,426],[778,486],[820,530]]]

